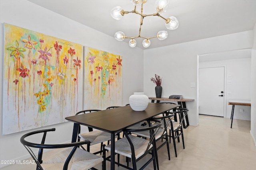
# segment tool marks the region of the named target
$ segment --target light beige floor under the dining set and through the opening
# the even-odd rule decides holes
[[[250,121],[234,119],[232,129],[230,123],[228,118],[199,115],[198,127],[188,126],[184,129],[185,149],[181,142],[176,144],[177,158],[172,143],[171,160],[168,160],[165,146],[158,150],[160,170],[256,170],[256,147],[250,136]],[[91,151],[99,147],[91,146]],[[143,159],[138,164],[140,162]],[[110,169],[109,162],[107,167]],[[101,169],[101,166],[96,168]],[[35,170],[36,166],[12,165],[2,168],[14,169]],[[123,169],[116,166],[116,170]],[[146,170],[152,169],[152,163],[146,167]]]

